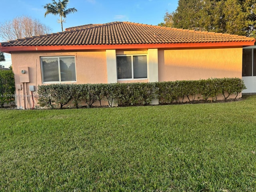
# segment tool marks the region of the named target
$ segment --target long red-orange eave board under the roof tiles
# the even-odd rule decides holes
[[[238,42],[204,42],[204,43],[166,43],[166,44],[100,44],[100,45],[54,45],[54,46],[1,46],[0,51],[11,53],[16,51],[54,51],[54,50],[105,50],[105,49],[138,49],[138,48],[209,48],[252,46],[253,41]]]

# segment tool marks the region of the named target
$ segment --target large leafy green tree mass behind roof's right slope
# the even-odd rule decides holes
[[[158,25],[256,36],[255,13],[255,0],[179,0]]]

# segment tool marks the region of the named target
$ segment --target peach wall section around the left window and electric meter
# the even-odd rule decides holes
[[[107,83],[106,52],[16,52],[12,53],[12,68],[14,70],[15,83],[20,83],[20,67],[29,67],[30,83],[28,86],[42,84],[40,57],[42,56],[75,56],[76,61],[76,82],[73,83]],[[68,82],[64,82],[68,83]],[[24,86],[24,84],[23,84]],[[36,88],[37,90],[37,88]],[[23,90],[16,90],[16,94],[23,94]],[[25,93],[26,94],[26,93]],[[34,92],[36,95],[36,92]],[[30,92],[31,95],[31,92]],[[29,96],[30,101],[32,98]],[[37,99],[37,98],[35,98]],[[20,102],[20,104],[19,104]],[[37,103],[37,101],[36,101]],[[24,105],[23,98],[17,100],[17,106]],[[30,107],[28,107],[30,108]]]

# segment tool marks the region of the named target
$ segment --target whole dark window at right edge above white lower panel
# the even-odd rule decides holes
[[[243,49],[242,76],[256,76],[256,49]]]

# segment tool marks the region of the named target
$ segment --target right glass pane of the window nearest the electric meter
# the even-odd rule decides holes
[[[60,57],[60,77],[61,81],[76,80],[76,68],[74,57]]]

